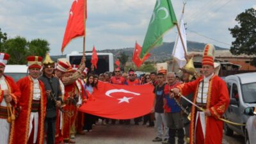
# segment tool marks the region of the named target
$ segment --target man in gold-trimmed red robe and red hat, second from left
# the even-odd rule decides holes
[[[44,143],[44,120],[47,95],[44,83],[38,80],[42,57],[28,56],[29,76],[17,81],[21,96],[18,102],[20,113],[15,120],[15,143]]]

